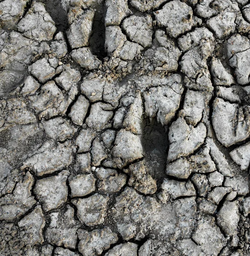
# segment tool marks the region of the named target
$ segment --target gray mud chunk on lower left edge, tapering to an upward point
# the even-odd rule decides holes
[[[33,176],[27,172],[22,182],[18,182],[12,194],[0,198],[0,220],[12,221],[23,215],[36,203],[31,189]]]

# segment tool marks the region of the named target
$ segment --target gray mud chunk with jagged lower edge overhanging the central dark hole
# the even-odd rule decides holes
[[[143,93],[145,113],[157,116],[157,121],[168,125],[179,108],[183,86],[179,75],[171,75],[163,80],[163,86],[152,87]]]

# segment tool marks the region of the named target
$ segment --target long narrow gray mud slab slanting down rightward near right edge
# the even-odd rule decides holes
[[[218,171],[224,176],[233,177],[233,171],[227,163],[225,155],[215,145],[214,140],[211,138],[206,138],[206,144],[210,148],[210,155],[212,160],[215,162]]]

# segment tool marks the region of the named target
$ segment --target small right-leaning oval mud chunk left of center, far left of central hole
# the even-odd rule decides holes
[[[80,95],[76,103],[71,107],[69,113],[69,116],[75,125],[83,125],[89,106],[89,101],[84,96]]]

